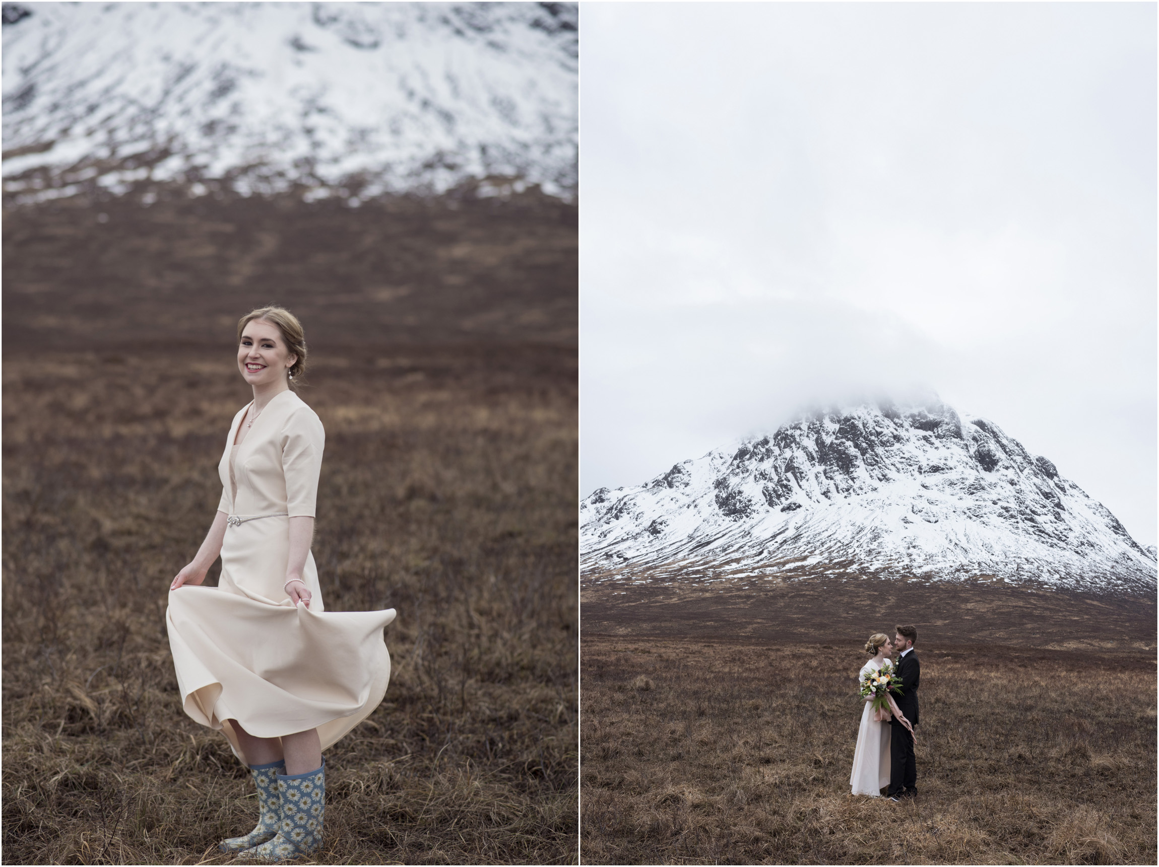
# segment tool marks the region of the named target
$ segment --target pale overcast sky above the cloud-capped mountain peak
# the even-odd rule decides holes
[[[585,3],[581,486],[930,388],[1156,542],[1153,3]]]

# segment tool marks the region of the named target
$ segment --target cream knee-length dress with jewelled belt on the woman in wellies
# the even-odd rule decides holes
[[[313,554],[302,571],[309,608],[286,596],[290,517],[314,515],[326,434],[283,391],[234,447],[247,409],[218,465],[218,508],[229,515],[218,586],[170,590],[166,612],[185,713],[221,730],[239,758],[231,719],[257,737],[316,728],[322,749],[364,720],[391,678],[382,627],[394,619],[394,609],[327,612]]]

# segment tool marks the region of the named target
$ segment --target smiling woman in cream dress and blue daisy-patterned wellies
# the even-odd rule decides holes
[[[166,623],[185,713],[220,730],[257,785],[253,831],[220,844],[241,859],[298,858],[322,844],[322,750],[382,700],[394,610],[327,613],[309,552],[326,434],[294,391],[301,323],[279,307],[238,323],[238,370],[254,399],[218,464],[221,500],[173,579]],[[217,587],[201,587],[221,556]]]

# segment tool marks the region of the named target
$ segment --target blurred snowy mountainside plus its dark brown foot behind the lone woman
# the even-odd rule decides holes
[[[6,3],[5,339],[575,343],[569,3]],[[146,323],[153,323],[152,326]]]

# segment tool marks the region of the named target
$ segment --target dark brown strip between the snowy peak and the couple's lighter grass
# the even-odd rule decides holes
[[[984,645],[1050,651],[1156,653],[1156,596],[1043,590],[1001,581],[828,579],[583,579],[583,631],[712,641],[722,634],[771,645],[836,644],[889,629],[901,616],[924,646]],[[862,639],[863,640],[863,639]]]

